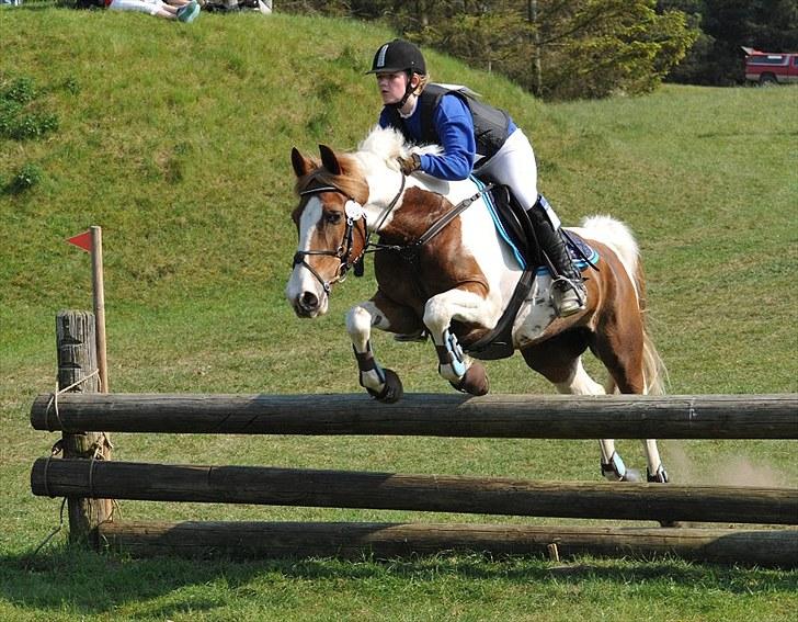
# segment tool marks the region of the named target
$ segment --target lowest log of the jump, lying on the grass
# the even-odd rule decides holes
[[[456,523],[136,522],[103,523],[100,547],[133,556],[379,559],[454,551],[499,555],[677,556],[695,562],[795,567],[798,530],[529,527]]]

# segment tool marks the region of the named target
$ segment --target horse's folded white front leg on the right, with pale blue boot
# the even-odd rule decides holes
[[[482,290],[466,284],[431,297],[424,307],[424,325],[435,342],[438,373],[457,391],[471,395],[488,393],[488,373],[481,363],[463,352],[451,326],[455,319],[485,327],[495,325],[497,312],[480,293]]]

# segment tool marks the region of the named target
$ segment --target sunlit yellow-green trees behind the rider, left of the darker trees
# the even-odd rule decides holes
[[[570,99],[651,91],[698,36],[680,10],[656,0],[375,0],[285,2],[386,19],[403,36],[536,94]]]

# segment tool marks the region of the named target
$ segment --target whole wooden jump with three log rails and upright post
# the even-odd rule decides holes
[[[59,386],[31,409],[60,430],[64,457],[37,460],[36,495],[69,499],[70,539],[135,555],[396,557],[445,551],[562,555],[662,554],[760,566],[798,565],[796,529],[509,524],[117,522],[110,499],[723,523],[798,524],[798,490],[675,484],[552,483],[265,466],[110,461],[106,432],[391,434],[522,439],[798,439],[798,394],[704,396],[96,394],[90,318],[57,318]],[[99,433],[95,433],[99,432]]]

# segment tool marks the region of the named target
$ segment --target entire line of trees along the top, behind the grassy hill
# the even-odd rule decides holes
[[[296,0],[295,13],[381,20],[547,99],[743,80],[741,46],[798,49],[795,0]]]

